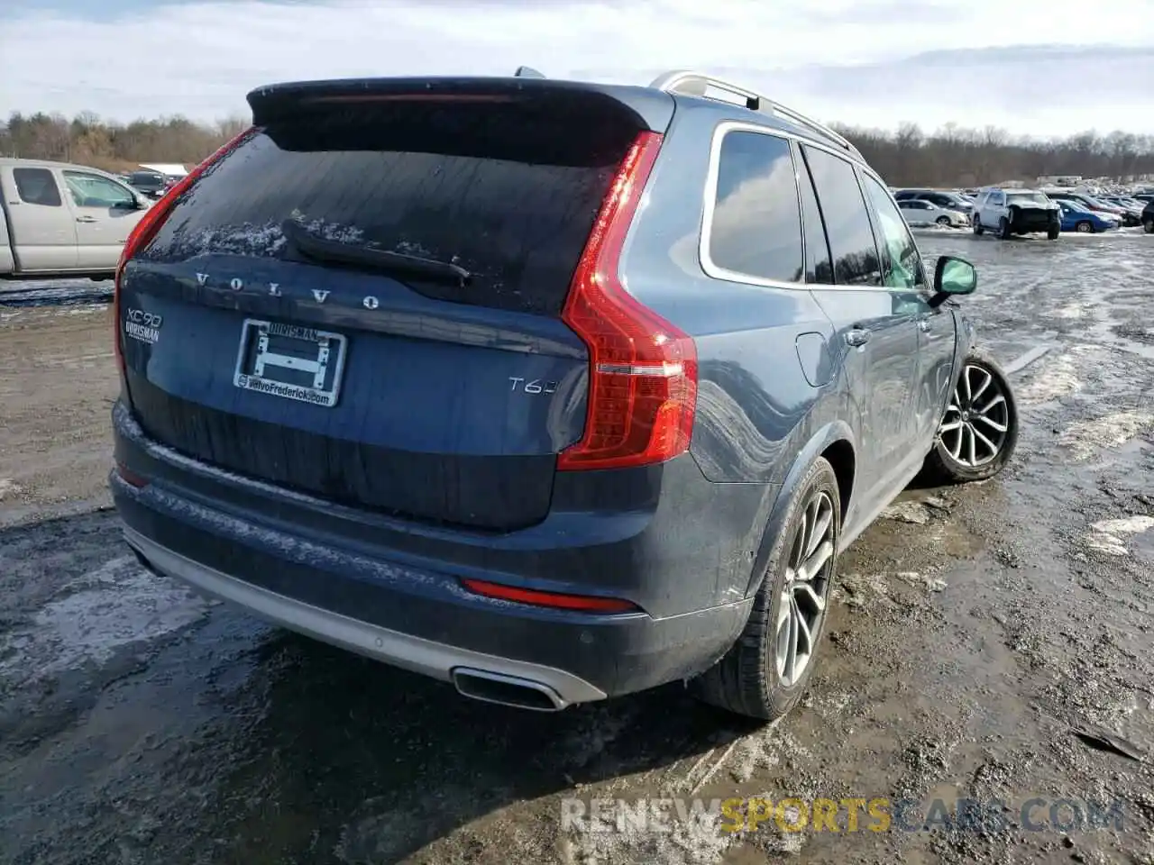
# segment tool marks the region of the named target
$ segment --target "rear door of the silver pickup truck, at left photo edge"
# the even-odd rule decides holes
[[[76,223],[65,202],[61,179],[52,168],[0,167],[3,174],[8,235],[22,271],[76,266]]]

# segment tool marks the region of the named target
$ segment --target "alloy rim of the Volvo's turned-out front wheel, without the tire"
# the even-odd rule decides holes
[[[977,468],[1002,453],[1010,430],[1010,406],[998,379],[984,367],[967,363],[950,397],[938,438],[958,464]]]

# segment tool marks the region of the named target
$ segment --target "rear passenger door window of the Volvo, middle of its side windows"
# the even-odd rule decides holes
[[[825,231],[839,285],[882,285],[882,268],[865,200],[854,167],[845,159],[802,144],[825,216]]]

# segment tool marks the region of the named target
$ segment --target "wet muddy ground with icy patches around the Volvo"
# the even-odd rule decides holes
[[[1048,349],[1014,375],[1018,454],[854,544],[810,693],[770,728],[673,686],[470,702],[147,576],[102,510],[107,308],[0,306],[0,862],[1154,863],[1154,238],[921,242],[979,265],[995,355]],[[915,830],[562,819],[732,796],[908,799]],[[935,799],[1006,810],[951,826]],[[1051,822],[1059,799],[1108,825]]]

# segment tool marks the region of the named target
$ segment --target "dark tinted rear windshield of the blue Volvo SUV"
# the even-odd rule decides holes
[[[145,258],[292,258],[294,219],[327,240],[456,264],[429,296],[556,314],[619,163],[621,118],[554,104],[337,105],[263,127],[175,205]]]

